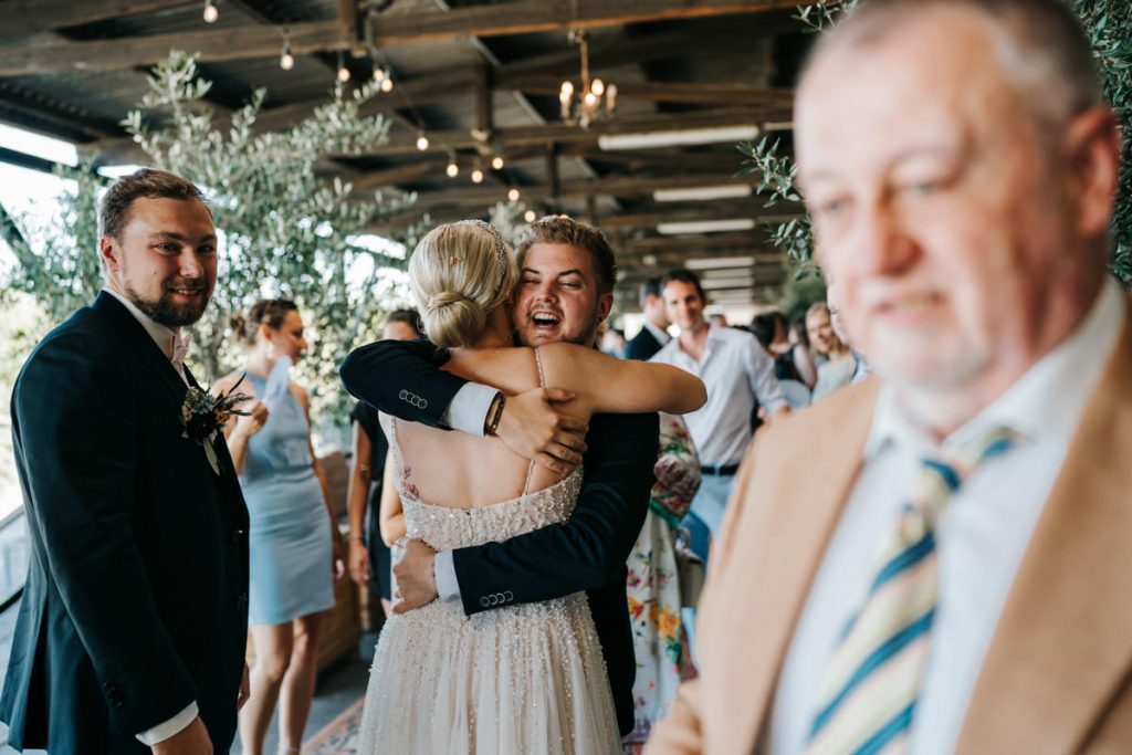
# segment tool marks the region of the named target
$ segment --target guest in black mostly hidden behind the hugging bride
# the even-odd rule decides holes
[[[383,341],[413,341],[420,337],[420,316],[415,309],[395,309],[389,312],[381,329]],[[384,482],[389,443],[381,431],[377,410],[366,402],[354,405],[350,419],[353,424],[353,467],[346,492],[350,577],[358,585],[370,585],[388,617],[392,609],[388,542],[392,539],[386,541],[381,537],[378,512],[383,495],[397,495],[396,490]]]

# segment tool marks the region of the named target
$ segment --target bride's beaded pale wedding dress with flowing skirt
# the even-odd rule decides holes
[[[395,432],[389,445],[396,455]],[[417,500],[397,478],[408,537],[435,550],[565,522],[582,487],[578,469],[543,490],[460,509]],[[474,616],[458,601],[432,601],[392,616],[374,655],[357,752],[620,753],[585,593]]]

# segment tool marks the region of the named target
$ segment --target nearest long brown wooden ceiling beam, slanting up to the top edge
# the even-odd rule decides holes
[[[383,15],[370,23],[374,25],[374,43],[378,46],[393,46],[469,36],[565,31],[569,26],[618,26],[751,14],[794,8],[813,1],[815,0],[654,0],[642,3],[640,0],[585,0],[580,2],[575,16],[566,0],[523,0],[505,7],[475,6],[440,14]],[[32,5],[31,0],[25,0],[25,5]],[[0,48],[0,76],[153,66],[174,48],[198,53],[201,62],[273,58],[282,46],[281,28],[252,25],[114,40],[12,45]],[[342,23],[338,19],[289,24],[286,28],[293,54],[335,51],[342,46]],[[357,41],[352,50],[363,52],[361,43]]]

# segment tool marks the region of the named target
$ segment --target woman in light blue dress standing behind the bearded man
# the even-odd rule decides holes
[[[344,568],[341,535],[310,443],[310,404],[289,375],[307,346],[298,308],[285,299],[261,300],[232,327],[249,346],[248,361],[216,388],[229,389],[245,374],[237,389],[258,410],[226,431],[251,521],[248,624],[256,664],[240,741],[245,755],[260,755],[280,700],[278,752],[299,753],[321,619],[334,607],[333,580]]]

